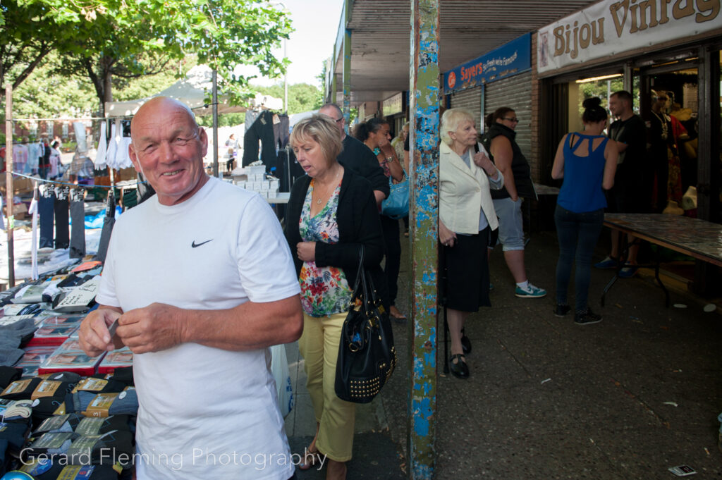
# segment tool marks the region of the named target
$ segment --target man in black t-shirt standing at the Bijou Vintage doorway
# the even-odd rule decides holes
[[[617,173],[614,186],[606,194],[606,211],[613,213],[646,213],[650,211],[653,179],[648,168],[646,129],[642,118],[632,110],[632,95],[620,90],[609,97],[609,110],[617,121],[609,127],[609,138],[619,145]],[[619,259],[619,232],[612,230],[612,252],[594,266],[598,269],[614,269]],[[619,272],[622,278],[633,276],[637,268],[639,245],[633,245],[635,237],[627,235],[630,248],[627,264]]]

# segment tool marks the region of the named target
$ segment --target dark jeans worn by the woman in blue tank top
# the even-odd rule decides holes
[[[591,256],[604,222],[604,209],[575,213],[557,205],[554,211],[559,238],[557,261],[557,303],[567,305],[567,289],[576,262],[574,274],[575,310],[585,310],[591,277]]]

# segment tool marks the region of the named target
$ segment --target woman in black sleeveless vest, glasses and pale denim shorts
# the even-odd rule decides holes
[[[520,298],[541,298],[547,291],[529,283],[524,266],[524,228],[521,214],[523,198],[534,197],[531,168],[516,143],[519,119],[512,108],[497,108],[487,117],[484,145],[491,160],[504,175],[504,188],[492,191],[494,209],[499,217],[499,242],[504,259],[516,282],[514,294]],[[493,248],[494,245],[491,245]]]

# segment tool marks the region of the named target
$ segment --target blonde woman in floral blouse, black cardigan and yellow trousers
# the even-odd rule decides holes
[[[336,162],[342,141],[331,118],[313,115],[300,121],[290,144],[307,175],[293,185],[285,234],[301,285],[304,321],[298,344],[317,422],[316,437],[299,468],[327,461],[326,479],[345,479],[355,404],[336,397],[336,357],[361,245],[365,269],[388,308],[380,268],[383,236],[370,183]]]

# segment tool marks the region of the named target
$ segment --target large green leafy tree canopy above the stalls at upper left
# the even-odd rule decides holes
[[[218,71],[219,90],[237,104],[252,95],[249,79],[233,74],[238,64],[257,66],[269,77],[287,66],[272,50],[288,38],[290,18],[268,0],[14,1],[43,14],[37,31],[62,31],[71,39],[56,43],[62,46],[57,71],[89,78],[101,108],[113,100],[114,78],[155,74],[189,54]]]

